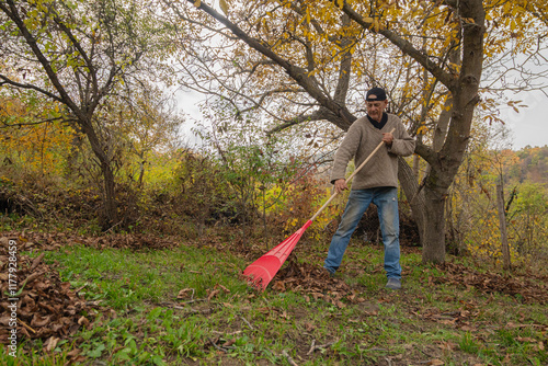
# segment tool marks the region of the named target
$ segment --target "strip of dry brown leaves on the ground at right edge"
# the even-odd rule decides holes
[[[445,275],[434,282],[464,287],[475,287],[486,293],[501,293],[521,297],[524,302],[548,304],[548,284],[546,278],[524,278],[502,276],[495,273],[479,273],[463,264],[445,262],[438,265]]]

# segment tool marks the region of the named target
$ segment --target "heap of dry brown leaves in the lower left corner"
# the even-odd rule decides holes
[[[15,318],[18,339],[43,339],[44,347],[50,351],[59,340],[90,324],[84,314],[90,313],[92,307],[70,289],[69,283],[60,279],[57,271],[44,263],[44,252],[34,259],[21,254],[34,245],[24,237],[0,238],[0,290],[9,295],[0,300],[0,342],[8,343]],[[15,263],[16,272],[10,273],[9,263]]]

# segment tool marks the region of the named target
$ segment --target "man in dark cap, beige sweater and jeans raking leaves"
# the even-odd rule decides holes
[[[385,244],[385,271],[388,277],[386,287],[400,289],[398,156],[413,153],[414,140],[398,116],[385,113],[387,106],[386,92],[381,88],[369,90],[366,94],[367,115],[352,124],[335,153],[331,183],[341,193],[347,190],[344,176],[349,161],[354,157],[355,165],[358,167],[380,141],[385,142],[385,147],[354,178],[346,208],[331,240],[323,267],[334,275],[352,233],[373,202],[378,209]],[[392,128],[396,130],[390,134]]]

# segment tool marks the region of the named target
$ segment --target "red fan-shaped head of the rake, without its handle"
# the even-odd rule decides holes
[[[312,224],[308,220],[300,229],[298,229],[293,236],[284,240],[277,247],[272,249],[270,252],[258,259],[255,262],[250,264],[246,271],[243,271],[243,276],[248,283],[263,291],[276,273],[279,271],[285,260],[292,253],[293,249],[299,241],[300,237],[305,230]]]

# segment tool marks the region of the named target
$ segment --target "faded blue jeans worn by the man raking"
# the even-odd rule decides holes
[[[385,243],[385,271],[388,278],[401,278],[400,224],[398,217],[398,188],[376,187],[351,191],[349,203],[336,229],[323,267],[334,273],[341,265],[350,238],[370,203],[377,206]]]

